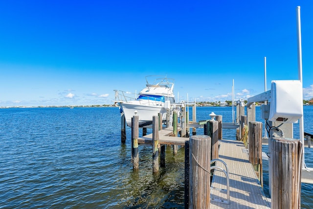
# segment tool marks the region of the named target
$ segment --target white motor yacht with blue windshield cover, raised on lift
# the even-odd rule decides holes
[[[150,82],[152,78],[155,78],[153,83]],[[158,113],[162,113],[162,120],[166,120],[167,110],[175,103],[174,79],[150,75],[146,76],[146,82],[146,87],[134,97],[128,92],[114,90],[114,102],[119,104],[130,127],[134,115],[139,116],[139,127],[152,124],[153,116]]]

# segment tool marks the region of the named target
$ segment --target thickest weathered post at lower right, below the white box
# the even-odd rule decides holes
[[[301,208],[303,144],[298,139],[276,137],[270,140],[271,208]]]

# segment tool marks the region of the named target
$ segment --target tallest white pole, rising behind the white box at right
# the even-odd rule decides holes
[[[297,38],[298,38],[298,78],[301,82],[302,89],[302,46],[301,46],[301,20],[300,20],[300,6],[296,8],[297,13]],[[301,142],[304,144],[304,127],[303,127],[303,116],[299,119],[299,136]],[[303,158],[302,158],[302,169],[306,168],[304,162],[304,149],[303,149]]]

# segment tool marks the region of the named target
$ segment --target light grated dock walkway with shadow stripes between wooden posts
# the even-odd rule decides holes
[[[248,155],[243,152],[243,142],[223,139],[220,144],[219,159],[227,164],[229,170],[230,204],[211,200],[210,209],[269,209],[270,199],[265,197]],[[217,162],[217,166],[224,168],[220,162]],[[211,199],[227,201],[226,191],[212,189],[212,186],[226,189],[226,178],[222,171],[214,171]]]

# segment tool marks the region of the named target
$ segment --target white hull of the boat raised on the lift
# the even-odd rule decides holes
[[[125,115],[126,123],[129,127],[132,127],[132,117],[139,116],[139,127],[152,124],[153,116],[158,116],[158,113],[162,114],[162,120],[166,120],[166,110],[163,106],[148,106],[134,103],[120,103],[120,107]]]

